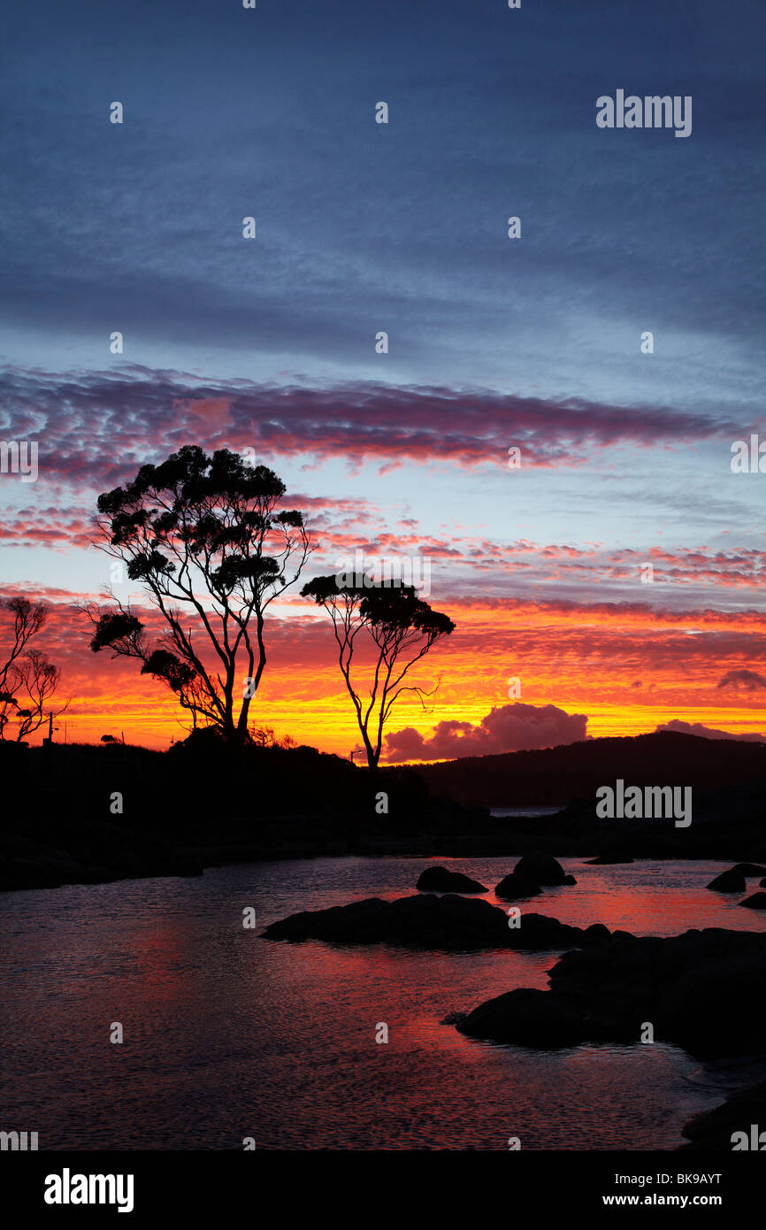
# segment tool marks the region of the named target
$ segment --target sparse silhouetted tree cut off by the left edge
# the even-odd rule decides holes
[[[43,627],[48,609],[28,598],[11,598],[5,610],[14,616],[14,629],[12,643],[0,657],[0,739],[14,737],[21,743],[45,721],[43,710],[52,704],[61,672],[39,649],[27,648]],[[55,718],[68,707],[69,701],[50,712]]]

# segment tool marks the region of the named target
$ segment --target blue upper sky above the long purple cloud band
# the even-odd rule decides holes
[[[17,9],[5,353],[101,367],[120,328],[125,359],[219,378],[760,408],[765,21],[743,2]],[[618,86],[691,93],[692,135],[596,129]]]

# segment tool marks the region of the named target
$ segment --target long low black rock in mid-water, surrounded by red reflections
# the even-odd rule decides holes
[[[511,926],[510,924],[518,922]],[[562,951],[575,945],[599,945],[606,927],[586,931],[543,914],[509,918],[488,902],[454,897],[400,897],[395,902],[369,898],[328,910],[291,914],[263,932],[269,940],[328,940],[334,943],[391,943],[408,948],[475,951],[520,948]]]

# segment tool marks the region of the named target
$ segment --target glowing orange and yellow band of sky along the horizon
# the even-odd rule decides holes
[[[423,686],[436,688],[425,711],[417,699],[403,697],[393,729],[413,727],[428,736],[440,721],[478,726],[492,708],[510,702],[509,683],[518,678],[523,702],[585,715],[590,737],[641,734],[674,720],[762,733],[764,701],[754,702],[735,683],[718,686],[727,673],[748,669],[762,656],[766,616],[759,611],[674,614],[639,603],[514,599],[439,603],[433,595],[432,604],[450,615],[456,631],[422,667]],[[161,683],[141,676],[133,663],[91,654],[87,624],[63,595],[52,611],[47,643],[65,665],[66,694],[74,697],[59,740],[97,742],[111,733],[166,748],[184,737],[182,715]],[[291,600],[274,622],[256,720],[278,737],[348,756],[359,738],[333,651],[326,621]]]

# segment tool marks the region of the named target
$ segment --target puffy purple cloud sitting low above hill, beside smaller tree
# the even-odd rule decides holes
[[[450,760],[456,756],[487,756],[500,752],[525,752],[578,743],[585,738],[584,713],[566,713],[556,705],[503,705],[493,707],[478,726],[471,722],[439,722],[430,738],[414,727],[389,734],[386,761]]]

